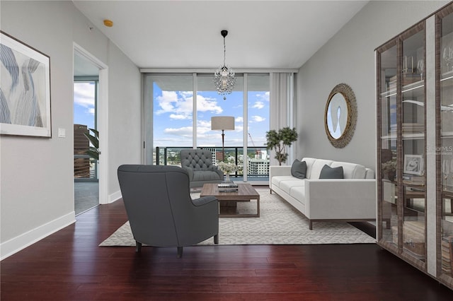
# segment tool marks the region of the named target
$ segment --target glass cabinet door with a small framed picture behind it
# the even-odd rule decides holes
[[[412,32],[415,32],[412,34]],[[403,212],[403,253],[413,259],[426,259],[426,179],[425,179],[425,29],[410,30],[402,41],[400,155]]]

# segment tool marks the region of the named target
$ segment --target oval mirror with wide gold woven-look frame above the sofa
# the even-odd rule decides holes
[[[348,145],[357,123],[357,103],[352,88],[340,83],[328,95],[324,126],[327,138],[336,148]]]

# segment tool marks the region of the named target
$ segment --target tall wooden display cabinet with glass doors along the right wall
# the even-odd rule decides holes
[[[453,289],[453,4],[376,61],[378,244]]]

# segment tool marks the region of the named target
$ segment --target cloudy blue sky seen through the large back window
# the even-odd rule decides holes
[[[162,91],[154,83],[154,146],[192,146],[193,91]],[[234,117],[234,131],[225,131],[225,146],[243,146],[243,93],[197,92],[197,146],[222,147],[222,131],[211,131],[211,117]],[[269,91],[248,92],[248,133],[255,146],[265,146],[269,131]],[[247,133],[248,147],[253,143]]]

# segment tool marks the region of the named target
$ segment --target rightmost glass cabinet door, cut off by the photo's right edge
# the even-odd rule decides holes
[[[449,13],[449,14],[447,14]],[[440,22],[440,273],[453,283],[453,8],[441,14]],[[442,16],[446,15],[446,16]],[[438,35],[437,35],[438,36]]]

